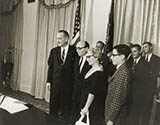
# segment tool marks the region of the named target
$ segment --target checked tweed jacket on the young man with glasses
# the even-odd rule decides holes
[[[126,63],[121,65],[113,74],[109,83],[105,103],[105,121],[119,124],[125,119],[130,73]],[[123,124],[124,125],[124,124]]]

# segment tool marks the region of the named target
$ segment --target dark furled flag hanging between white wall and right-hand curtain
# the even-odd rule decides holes
[[[113,36],[114,36],[114,0],[112,0],[112,3],[111,3],[109,22],[107,25],[105,53],[112,50]]]

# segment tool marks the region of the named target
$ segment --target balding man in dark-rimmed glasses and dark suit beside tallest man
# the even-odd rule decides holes
[[[89,49],[89,43],[87,41],[79,41],[76,45],[78,53],[75,59],[74,70],[75,70],[75,82],[73,88],[73,100],[72,100],[72,121],[75,122],[80,116],[80,97],[81,89],[83,85],[83,79],[85,74],[91,68],[86,60],[86,54]]]

